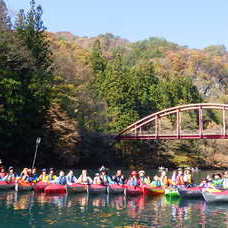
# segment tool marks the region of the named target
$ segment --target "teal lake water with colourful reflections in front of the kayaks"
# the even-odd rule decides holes
[[[161,197],[0,193],[0,227],[228,227],[228,204]]]

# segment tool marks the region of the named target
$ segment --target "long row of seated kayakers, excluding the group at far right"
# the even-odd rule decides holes
[[[29,169],[24,168],[20,175],[17,175],[14,171],[13,167],[9,167],[6,172],[2,167],[0,170],[0,181],[21,181],[21,182],[48,182],[48,183],[57,183],[57,184],[127,184],[129,186],[142,186],[144,184],[151,185],[154,187],[161,186],[170,186],[170,185],[191,185],[193,184],[191,170],[186,169],[178,169],[178,171],[174,171],[172,178],[168,178],[166,171],[160,171],[159,175],[155,175],[153,179],[146,175],[144,170],[140,171],[132,171],[130,176],[126,178],[121,170],[117,170],[116,174],[110,176],[108,174],[108,169],[102,166],[99,169],[99,172],[95,174],[95,177],[92,179],[87,170],[82,170],[81,175],[77,178],[74,175],[74,172],[70,170],[66,175],[64,171],[60,171],[59,175],[55,174],[55,170],[53,168],[42,169],[41,174],[37,173],[36,168]]]

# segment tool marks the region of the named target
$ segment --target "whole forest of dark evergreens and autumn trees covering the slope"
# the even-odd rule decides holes
[[[164,108],[227,103],[227,83],[223,45],[50,33],[34,0],[13,20],[0,0],[0,157],[8,164],[30,166],[39,136],[38,166],[219,165],[223,140],[118,142],[113,135]],[[218,113],[207,117],[219,125]]]

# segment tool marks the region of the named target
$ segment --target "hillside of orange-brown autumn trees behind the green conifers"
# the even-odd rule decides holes
[[[118,52],[121,53],[124,64],[133,67],[146,62],[153,63],[155,74],[161,80],[165,80],[167,75],[174,78],[191,78],[205,102],[227,102],[228,53],[224,46],[211,46],[203,50],[197,50],[179,46],[160,38],[149,38],[148,40],[131,43],[111,34],[80,38],[64,32],[51,34],[51,36],[57,65],[60,65],[58,58],[61,56],[64,59],[65,67],[67,67],[67,69],[61,67],[62,69],[58,69],[58,73],[64,75],[65,78],[70,78],[71,83],[77,82],[77,87],[80,88],[79,94],[84,94],[84,96],[77,94],[80,103],[78,107],[80,109],[81,106],[83,110],[87,110],[86,113],[84,111],[80,113],[81,117],[83,116],[83,123],[81,123],[85,127],[86,122],[86,127],[92,131],[95,125],[105,124],[103,118],[106,118],[105,103],[94,102],[93,95],[89,95],[88,91],[86,92],[86,85],[93,78],[93,70],[89,59],[92,55],[92,47],[97,40],[100,41],[103,55],[108,59],[114,58],[115,52]],[[58,43],[61,43],[61,46],[58,46]],[[91,117],[93,118],[92,122]],[[89,124],[89,122],[91,123]],[[184,143],[189,144],[189,142]],[[210,141],[205,141],[203,144],[207,145],[206,149],[205,146],[201,147],[200,145],[199,148],[196,147],[195,149],[203,148],[204,153],[208,153],[211,159],[213,157],[216,160],[215,157],[217,156],[220,161],[227,160],[228,156],[226,156],[226,153],[224,155],[222,149],[224,146],[227,147],[226,141],[215,140],[213,144]],[[166,151],[170,151],[168,153],[173,154],[174,152],[175,154],[175,151],[179,150],[175,143],[174,146],[171,143],[168,148],[167,145],[165,147]],[[215,150],[217,151],[215,152]],[[207,161],[209,163],[210,156]]]

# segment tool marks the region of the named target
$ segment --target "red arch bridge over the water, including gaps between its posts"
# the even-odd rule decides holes
[[[117,138],[228,139],[228,105],[200,103],[168,108],[131,124]]]

